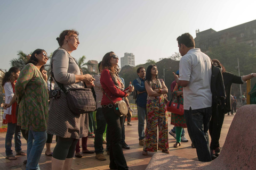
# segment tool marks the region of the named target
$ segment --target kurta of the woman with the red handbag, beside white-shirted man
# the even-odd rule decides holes
[[[176,86],[173,90],[173,95],[175,97],[173,102],[178,103],[178,98],[179,98],[179,103],[183,105],[183,97],[181,95],[177,97],[178,91],[183,91],[183,87],[176,84]],[[184,115],[178,115],[178,114],[171,113],[171,124],[173,124],[174,126],[177,126],[177,127],[187,128],[187,124],[186,124]]]

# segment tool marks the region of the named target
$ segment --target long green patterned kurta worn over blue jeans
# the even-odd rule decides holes
[[[19,112],[17,125],[24,130],[45,131],[48,119],[48,91],[43,75],[27,64],[15,84]]]

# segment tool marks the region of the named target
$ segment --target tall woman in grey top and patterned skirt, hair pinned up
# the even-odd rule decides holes
[[[92,76],[81,75],[79,66],[70,55],[79,45],[78,32],[64,30],[57,41],[60,47],[53,52],[51,60],[54,89],[60,89],[61,86],[66,90],[84,88],[83,82],[93,85]],[[72,113],[68,107],[67,97],[61,91],[59,98],[52,98],[50,101],[47,125],[47,133],[58,136],[52,155],[52,169],[71,169],[77,141],[88,135],[88,114]]]

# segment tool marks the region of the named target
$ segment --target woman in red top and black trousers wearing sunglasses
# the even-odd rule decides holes
[[[103,70],[100,76],[100,83],[103,91],[106,92],[114,103],[122,100],[123,97],[129,96],[130,92],[134,90],[134,87],[131,86],[129,89],[123,91],[124,84],[119,78],[117,70],[118,59],[118,56],[114,52],[109,52],[105,54],[101,62]],[[112,102],[105,94],[103,94],[101,105],[102,113],[108,124],[108,134],[110,135],[109,168],[128,169],[121,145],[124,118],[115,113]]]

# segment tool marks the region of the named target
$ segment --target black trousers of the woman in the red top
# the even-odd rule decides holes
[[[114,108],[103,107],[102,112],[108,124],[108,132],[110,137],[110,169],[128,169],[121,145],[122,126],[124,118],[115,114]]]

